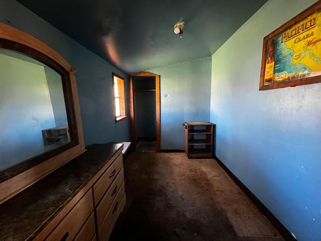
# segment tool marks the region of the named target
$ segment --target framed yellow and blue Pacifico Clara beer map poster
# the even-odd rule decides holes
[[[321,1],[263,39],[259,90],[321,82]]]

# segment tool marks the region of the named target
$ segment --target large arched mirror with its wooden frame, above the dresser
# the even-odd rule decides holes
[[[73,69],[44,43],[0,24],[0,203],[82,153]]]

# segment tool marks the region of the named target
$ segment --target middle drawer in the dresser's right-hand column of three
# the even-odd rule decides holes
[[[100,224],[104,217],[106,216],[107,211],[109,210],[111,203],[116,198],[119,191],[123,191],[124,185],[124,171],[123,168],[119,171],[116,179],[110,185],[108,191],[101,198],[101,201],[96,207],[96,217],[97,217],[97,226],[100,227]]]

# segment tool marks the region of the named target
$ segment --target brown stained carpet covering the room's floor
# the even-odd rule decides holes
[[[214,159],[131,152],[110,240],[284,240]]]

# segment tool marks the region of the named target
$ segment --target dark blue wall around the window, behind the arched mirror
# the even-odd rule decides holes
[[[13,0],[0,1],[0,22],[22,30],[49,45],[77,69],[77,85],[85,145],[129,141],[129,118],[115,124],[112,72],[124,73]],[[129,115],[128,101],[126,103]]]

